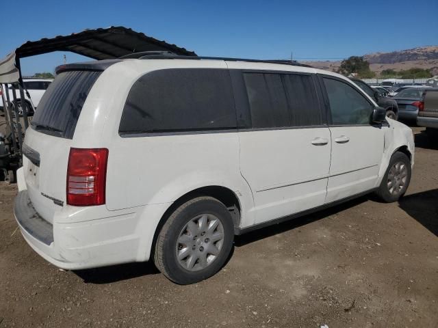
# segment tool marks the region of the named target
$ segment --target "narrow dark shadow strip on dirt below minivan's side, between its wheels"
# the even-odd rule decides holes
[[[327,208],[325,210],[320,210],[318,212],[305,215],[303,217],[296,217],[294,219],[290,219],[289,221],[274,224],[272,226],[261,228],[253,232],[248,232],[247,234],[242,234],[240,236],[235,236],[234,245],[236,247],[241,247],[253,243],[255,241],[259,241],[260,239],[263,238],[274,236],[276,234],[281,234],[283,232],[286,232],[287,230],[292,230],[295,228],[299,228],[301,226],[305,226],[308,223],[312,223],[314,221],[324,219],[324,217],[329,217],[330,215],[334,215],[336,213],[342,212],[343,210],[347,210],[348,208],[357,206],[368,200],[374,200],[374,197],[372,195],[365,195],[356,198],[355,200],[350,200],[343,204],[339,204],[331,208]]]

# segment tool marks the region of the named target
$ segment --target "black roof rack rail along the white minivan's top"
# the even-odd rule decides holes
[[[125,58],[126,57],[120,57],[120,59],[125,59]],[[191,59],[191,60],[213,59],[213,60],[227,60],[227,61],[248,61],[251,63],[282,64],[282,65],[302,66],[302,67],[312,68],[312,66],[310,65],[298,63],[298,61],[288,61],[282,59],[247,59],[247,58],[230,58],[230,57],[184,56],[184,55],[176,55],[172,53],[167,54],[167,51],[163,51],[162,53],[159,51],[146,51],[146,55],[138,56],[136,58],[138,59]]]

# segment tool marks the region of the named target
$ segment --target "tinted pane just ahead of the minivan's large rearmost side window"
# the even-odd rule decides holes
[[[280,74],[244,73],[253,128],[290,126]]]

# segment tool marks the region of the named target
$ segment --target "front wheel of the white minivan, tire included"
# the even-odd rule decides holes
[[[396,202],[406,193],[411,181],[411,161],[402,152],[391,156],[388,168],[376,194],[384,202]]]

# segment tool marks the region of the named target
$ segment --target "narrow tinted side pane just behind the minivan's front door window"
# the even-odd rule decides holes
[[[292,126],[311,126],[322,124],[322,113],[315,85],[310,75],[284,74],[283,81]]]

